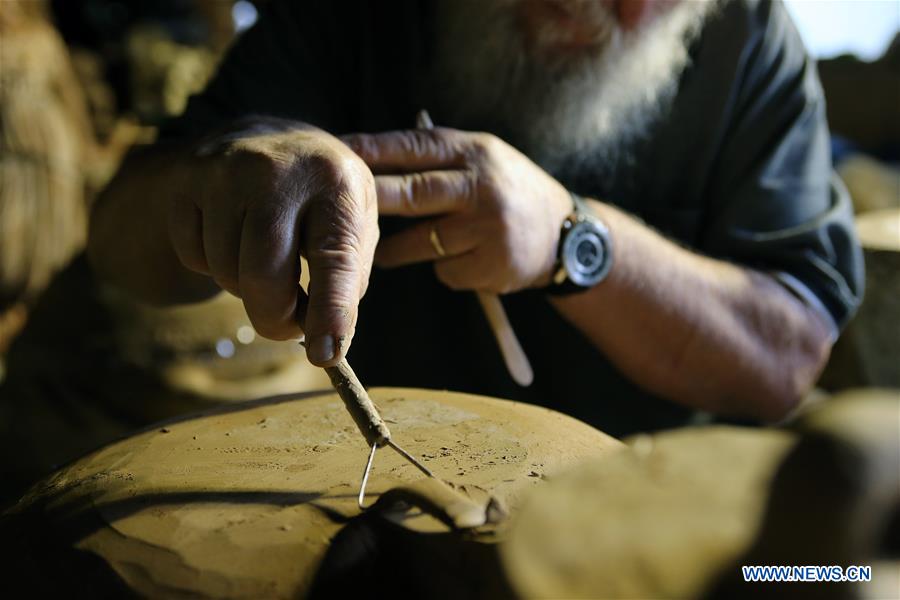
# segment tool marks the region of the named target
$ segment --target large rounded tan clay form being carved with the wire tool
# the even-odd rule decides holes
[[[546,475],[622,444],[570,417],[503,400],[416,389],[371,396],[394,440],[438,477],[515,511]],[[235,405],[86,456],[13,509],[96,525],[75,547],[141,595],[302,596],[329,542],[359,514],[367,447],[336,394]],[[378,450],[367,502],[423,476]],[[422,515],[404,523],[447,531]],[[53,566],[46,566],[53,572]]]

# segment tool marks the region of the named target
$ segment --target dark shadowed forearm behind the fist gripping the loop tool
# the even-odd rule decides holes
[[[88,257],[98,276],[153,303],[209,298],[219,288],[185,268],[168,232],[173,194],[190,193],[191,152],[168,144],[131,154],[91,214]]]

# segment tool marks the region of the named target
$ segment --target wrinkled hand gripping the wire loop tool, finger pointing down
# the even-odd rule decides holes
[[[324,131],[266,122],[207,141],[189,160],[167,215],[178,259],[240,297],[260,335],[305,333],[312,363],[336,363],[353,336],[378,242],[369,168]],[[299,286],[301,254],[308,297]]]

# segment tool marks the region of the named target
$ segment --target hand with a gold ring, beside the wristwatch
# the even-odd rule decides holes
[[[572,200],[515,148],[444,128],[342,139],[375,174],[380,214],[432,217],[381,240],[377,265],[434,261],[454,290],[503,294],[550,283]]]

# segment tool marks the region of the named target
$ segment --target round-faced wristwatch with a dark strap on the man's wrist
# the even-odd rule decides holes
[[[612,267],[609,229],[590,211],[584,198],[572,194],[572,213],[563,221],[556,251],[556,270],[548,294],[577,294],[594,287]]]

